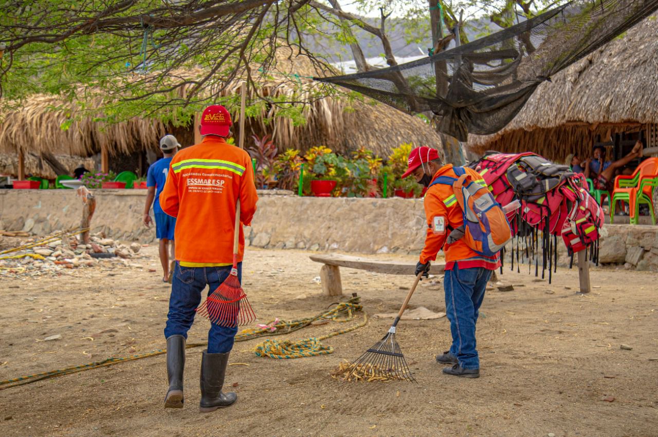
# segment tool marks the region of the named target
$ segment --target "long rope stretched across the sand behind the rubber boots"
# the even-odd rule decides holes
[[[352,313],[353,311],[361,311],[363,310],[363,306],[359,304],[359,297],[353,297],[350,298],[347,302],[341,302],[340,304],[337,304],[334,308],[328,311],[324,311],[322,313],[319,313],[318,315],[315,315],[314,317],[306,317],[303,319],[295,319],[291,320],[288,322],[280,322],[274,325],[274,327],[277,328],[277,331],[272,333],[270,332],[269,329],[261,329],[261,328],[251,328],[251,329],[245,329],[241,331],[240,334],[236,335],[235,341],[236,342],[243,342],[247,340],[251,340],[253,338],[260,338],[263,336],[272,336],[272,335],[282,335],[282,334],[288,334],[293,331],[297,331],[299,329],[305,328],[314,321],[317,321],[319,319],[331,319],[333,321],[337,321],[340,323],[344,323],[346,321],[349,321],[353,319]],[[345,319],[339,319],[338,317],[342,317],[343,315],[346,315]],[[323,340],[325,338],[329,338],[335,335],[343,334],[343,333],[348,333],[349,331],[353,331],[354,329],[357,329],[358,327],[361,327],[365,325],[365,321],[355,327],[351,327],[349,329],[345,329],[343,331],[338,331],[338,333],[332,333],[328,334],[327,336],[320,337],[318,340]],[[199,346],[207,346],[207,342],[205,343],[188,343],[186,344],[186,348],[196,348]],[[52,370],[48,372],[43,372],[43,373],[36,373],[34,375],[25,375],[22,377],[18,378],[13,378],[13,379],[7,379],[7,380],[2,380],[0,381],[0,390],[5,390],[5,388],[11,388],[11,387],[16,387],[24,384],[31,384],[32,382],[37,382],[40,380],[44,379],[51,379],[55,377],[61,377],[63,375],[70,375],[72,373],[78,373],[86,370],[91,370],[91,369],[98,369],[99,367],[107,367],[110,365],[114,365],[117,363],[124,363],[126,361],[134,361],[136,359],[141,359],[141,358],[146,358],[146,357],[153,357],[157,356],[160,354],[166,353],[166,349],[156,349],[152,350],[150,352],[145,352],[143,354],[136,354],[136,355],[130,355],[127,357],[110,357],[107,359],[103,359],[102,361],[93,361],[91,363],[87,364],[80,364],[80,365],[74,365],[74,366],[69,366],[69,367],[64,367],[63,369],[57,369],[57,370]],[[330,352],[329,352],[330,353]]]

